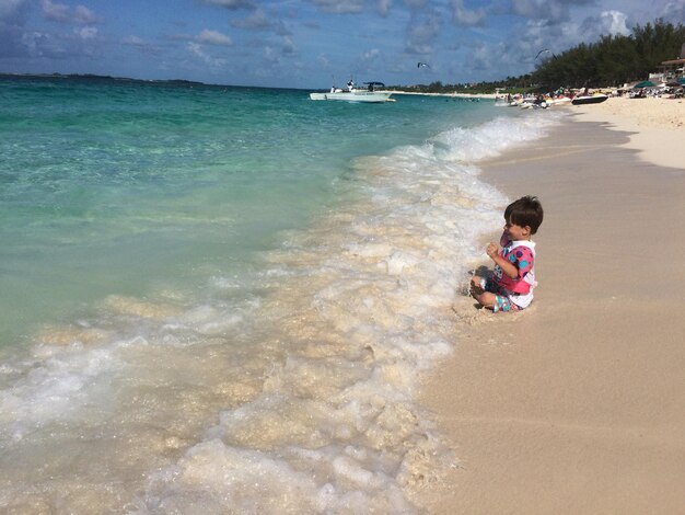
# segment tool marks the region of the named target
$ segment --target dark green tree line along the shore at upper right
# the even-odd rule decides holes
[[[674,25],[657,19],[635,26],[629,35],[602,36],[596,43],[581,43],[559,55],[546,54],[532,73],[477,84],[433,82],[413,89],[431,93],[494,93],[496,89],[553,91],[559,87],[617,87],[645,80],[661,62],[677,59],[683,43],[685,26],[682,23]]]

